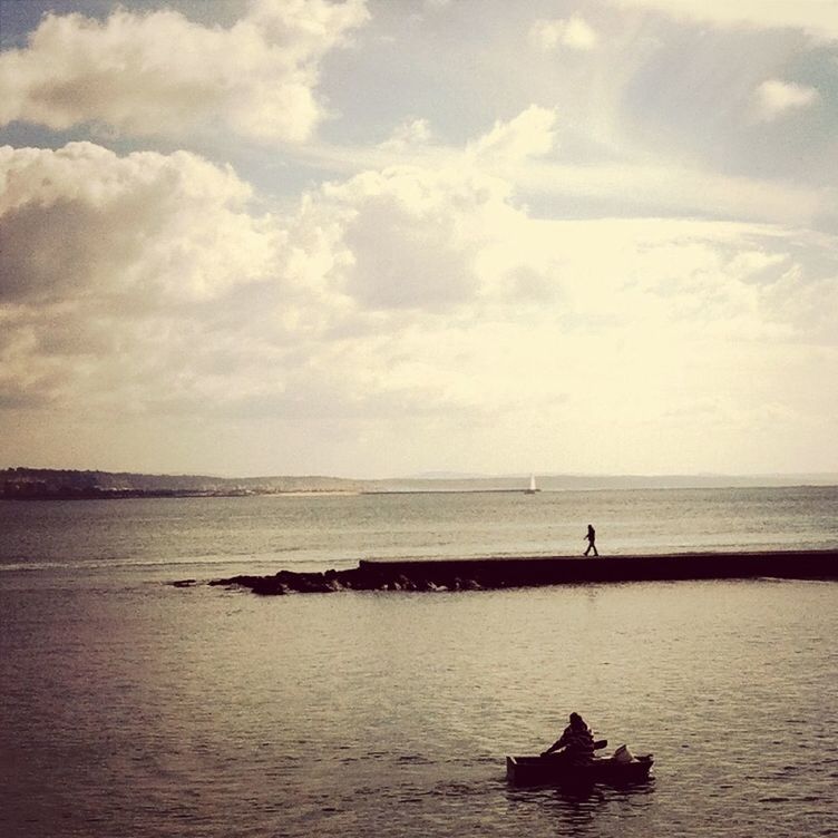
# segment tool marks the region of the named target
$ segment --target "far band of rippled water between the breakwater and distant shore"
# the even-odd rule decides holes
[[[359,558],[838,547],[838,487],[0,503],[0,574],[198,577]],[[0,584],[2,579],[0,579]]]

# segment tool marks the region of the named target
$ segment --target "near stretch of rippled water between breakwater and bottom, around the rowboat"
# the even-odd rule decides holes
[[[595,591],[0,587],[0,835],[838,835],[838,587]],[[568,707],[656,781],[508,787]]]

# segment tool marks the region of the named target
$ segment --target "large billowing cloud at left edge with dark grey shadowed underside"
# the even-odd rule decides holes
[[[233,172],[185,152],[0,147],[6,386],[120,410],[184,389],[202,333],[241,315],[276,270],[280,232],[250,198]]]

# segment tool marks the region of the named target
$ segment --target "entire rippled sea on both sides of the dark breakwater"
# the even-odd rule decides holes
[[[838,487],[0,501],[0,836],[838,835],[834,582],[206,584],[581,555],[588,524],[603,555],[835,549]],[[509,786],[572,711],[652,779]]]

